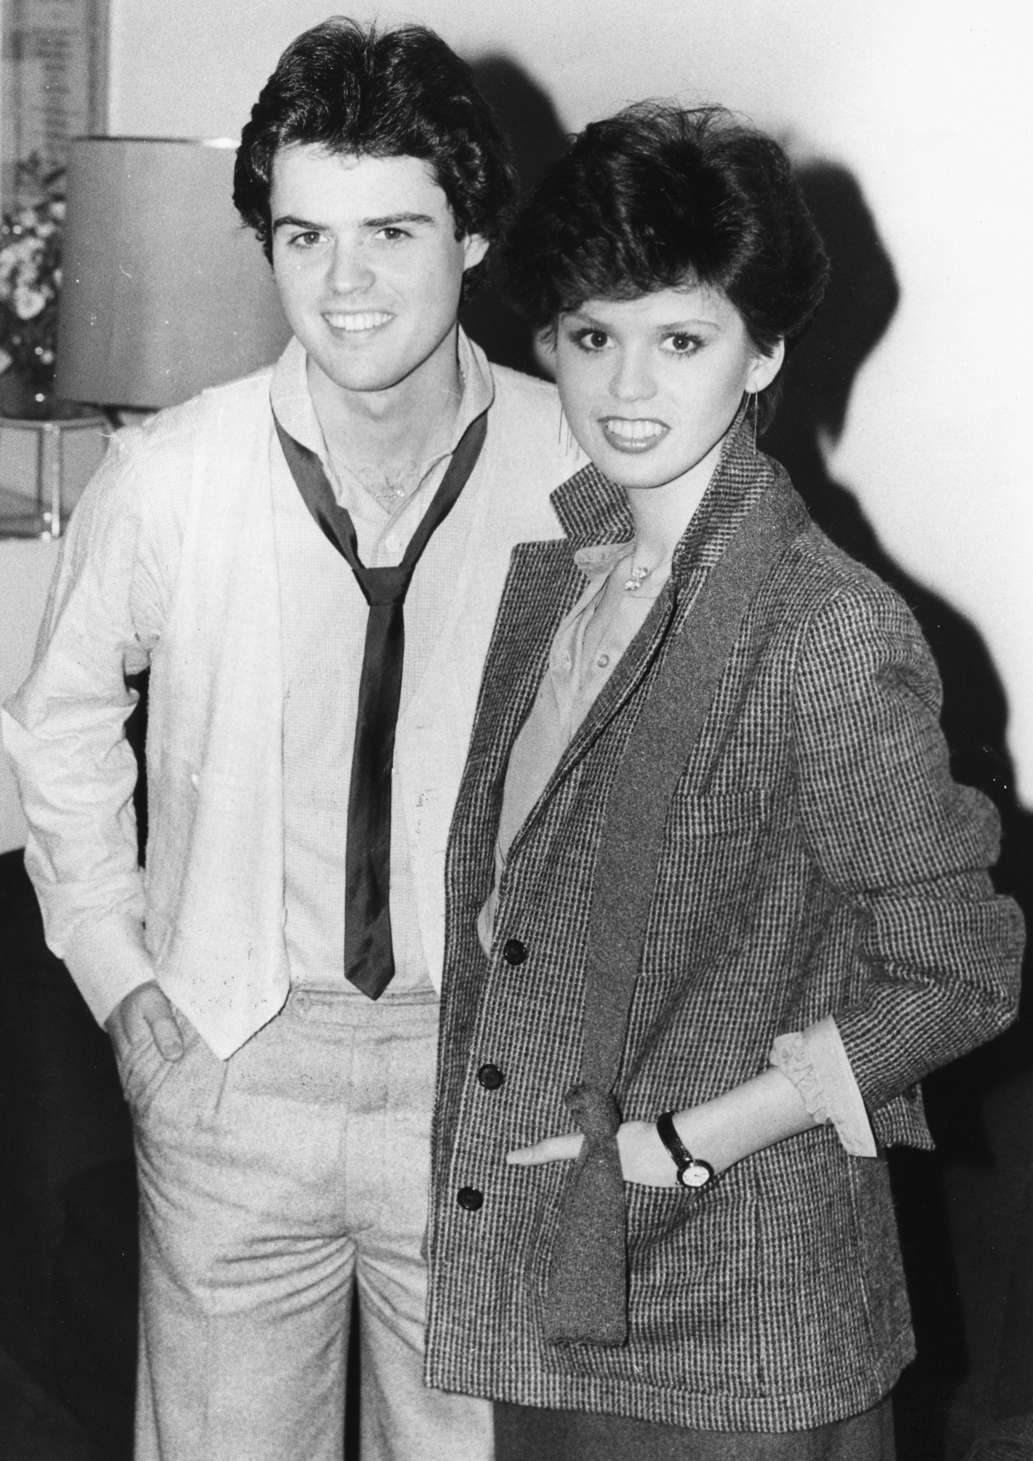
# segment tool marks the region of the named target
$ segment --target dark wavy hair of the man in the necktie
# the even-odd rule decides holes
[[[457,238],[482,234],[497,243],[516,196],[508,148],[470,67],[422,25],[381,32],[332,16],[281,56],[241,133],[234,169],[234,203],[269,260],[273,158],[292,143],[422,158],[449,199]]]

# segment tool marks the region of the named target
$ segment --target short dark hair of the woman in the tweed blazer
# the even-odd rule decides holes
[[[640,102],[587,126],[542,177],[508,231],[503,270],[539,330],[586,300],[712,285],[767,354],[807,329],[828,260],[777,142],[723,107]],[[777,380],[758,403],[763,422]]]

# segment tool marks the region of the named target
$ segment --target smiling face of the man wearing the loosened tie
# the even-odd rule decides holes
[[[430,164],[283,148],[270,212],[273,275],[310,368],[384,392],[453,349],[463,273],[488,244],[456,238]]]

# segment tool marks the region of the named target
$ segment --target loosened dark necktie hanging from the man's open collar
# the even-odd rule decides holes
[[[273,418],[276,419],[276,418]],[[466,428],[441,485],[396,568],[367,568],[358,555],[355,524],[340,507],[314,451],[283,431],[276,434],[301,497],[326,538],[351,567],[370,605],[358,688],[352,779],[345,850],[345,976],[377,999],[394,976],[392,945],[392,764],[402,695],[405,621],[402,606],[419,555],[449,516],[481,454],[487,415]]]

